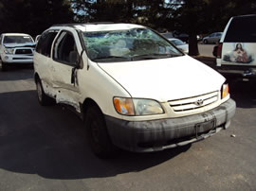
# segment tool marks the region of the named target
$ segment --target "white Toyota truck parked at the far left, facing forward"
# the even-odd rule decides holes
[[[33,63],[35,43],[23,33],[3,33],[0,36],[0,62],[2,71],[11,63]]]

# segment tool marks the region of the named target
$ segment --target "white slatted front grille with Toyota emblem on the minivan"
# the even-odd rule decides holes
[[[185,111],[196,110],[208,106],[218,100],[218,92],[211,92],[206,95],[192,96],[182,99],[175,99],[169,101],[170,106],[174,112],[180,113]]]

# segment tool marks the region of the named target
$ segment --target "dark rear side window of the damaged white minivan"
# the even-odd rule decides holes
[[[39,42],[36,46],[36,52],[45,55],[46,57],[50,57],[51,44],[55,39],[58,31],[49,30],[42,34],[39,39]]]

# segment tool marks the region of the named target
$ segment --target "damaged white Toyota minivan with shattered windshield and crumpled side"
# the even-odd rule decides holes
[[[51,26],[34,70],[40,104],[79,113],[99,157],[200,141],[229,128],[235,113],[224,77],[145,26]]]

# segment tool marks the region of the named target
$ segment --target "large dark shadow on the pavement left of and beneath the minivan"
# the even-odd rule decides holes
[[[47,179],[112,177],[171,160],[190,146],[155,153],[95,157],[81,119],[60,106],[41,107],[35,91],[0,94],[0,167]]]

